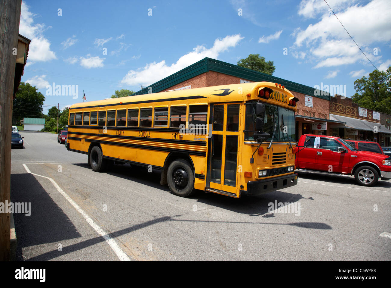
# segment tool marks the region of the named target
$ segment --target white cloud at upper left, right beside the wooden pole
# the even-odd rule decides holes
[[[56,54],[50,50],[50,41],[43,35],[45,24],[34,24],[34,16],[29,11],[29,6],[22,2],[19,33],[31,39],[27,60],[50,61],[57,59]]]

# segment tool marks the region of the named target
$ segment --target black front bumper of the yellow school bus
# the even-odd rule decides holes
[[[277,178],[269,178],[259,181],[249,181],[247,183],[247,191],[240,191],[240,194],[247,196],[256,196],[291,187],[297,184],[297,173],[285,175]]]

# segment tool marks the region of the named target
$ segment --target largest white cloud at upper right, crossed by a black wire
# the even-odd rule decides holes
[[[319,1],[308,0],[301,3],[316,6],[319,4]],[[350,3],[351,1],[340,2],[337,7],[339,7],[341,12],[337,13],[337,16],[355,42],[361,46],[366,56],[372,62],[378,61],[380,56],[373,54],[371,44],[377,42],[387,43],[391,40],[391,25],[389,25],[388,16],[391,14],[391,1],[373,0],[366,5],[353,5],[343,9],[343,5],[346,6]],[[332,5],[330,4],[330,6]],[[301,7],[301,12],[299,12],[309,17],[310,13],[304,12],[307,11],[304,7],[306,6]],[[311,9],[315,12],[323,9],[317,9],[316,7]],[[365,21],[362,19],[365,19]],[[292,35],[296,37],[296,40],[291,47],[291,51],[304,49],[308,53],[308,57],[317,62],[315,68],[356,62],[369,64],[334,15],[329,17],[328,14],[325,14],[321,20],[315,24],[308,25],[305,30],[295,29]]]

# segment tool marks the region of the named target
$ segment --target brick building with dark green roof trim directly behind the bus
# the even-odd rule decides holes
[[[284,85],[299,99],[296,113],[296,139],[302,134],[330,135],[330,125],[344,125],[344,121],[330,119],[328,93],[324,91],[317,93],[319,91],[306,85],[211,58],[204,58],[133,95],[147,94],[151,89],[153,93],[156,93],[259,81]]]

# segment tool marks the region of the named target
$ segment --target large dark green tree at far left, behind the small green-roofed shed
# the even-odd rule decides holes
[[[24,117],[41,118],[42,105],[45,101],[45,96],[41,92],[37,92],[37,88],[29,83],[20,82],[20,91],[16,92],[13,100],[12,122],[16,125]]]

